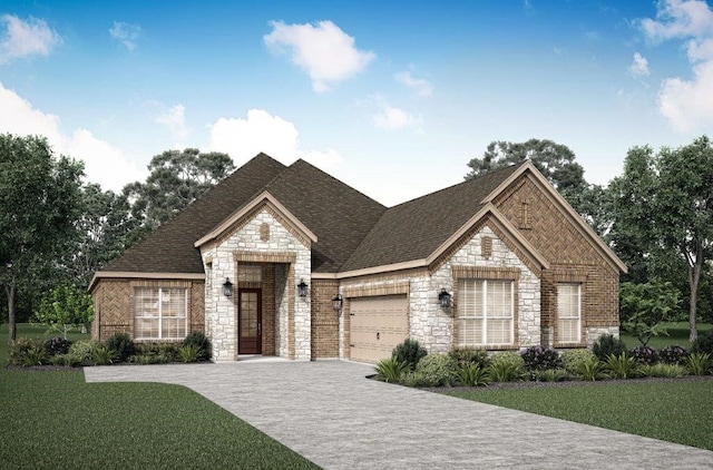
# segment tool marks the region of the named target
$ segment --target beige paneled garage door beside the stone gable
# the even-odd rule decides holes
[[[351,298],[350,315],[352,361],[377,363],[409,337],[406,295]]]

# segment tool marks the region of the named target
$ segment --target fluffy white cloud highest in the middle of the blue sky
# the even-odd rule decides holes
[[[305,70],[316,92],[362,71],[377,56],[354,47],[354,38],[331,21],[285,25],[271,21],[265,45],[276,53],[289,52],[294,65]]]

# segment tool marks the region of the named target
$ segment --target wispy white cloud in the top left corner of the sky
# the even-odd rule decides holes
[[[22,21],[12,14],[0,16],[0,27],[7,25],[7,31],[0,31],[0,65],[12,59],[28,56],[48,56],[62,38],[47,26],[45,20],[30,18]]]

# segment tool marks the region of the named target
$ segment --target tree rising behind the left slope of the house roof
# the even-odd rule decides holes
[[[156,155],[148,169],[146,183],[131,183],[123,192],[130,205],[130,217],[138,222],[138,236],[179,213],[229,175],[235,166],[226,154],[202,154],[186,148]]]

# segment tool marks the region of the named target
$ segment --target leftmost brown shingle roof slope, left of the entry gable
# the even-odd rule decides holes
[[[283,164],[267,155],[257,155],[102,271],[202,274],[201,252],[194,246],[196,239],[284,169]]]

